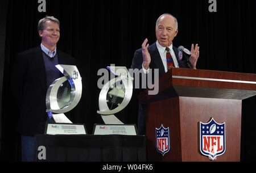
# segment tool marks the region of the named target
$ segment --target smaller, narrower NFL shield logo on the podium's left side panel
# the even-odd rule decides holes
[[[164,128],[163,124],[159,129],[155,128],[155,137],[156,150],[164,156],[170,150],[169,128]]]

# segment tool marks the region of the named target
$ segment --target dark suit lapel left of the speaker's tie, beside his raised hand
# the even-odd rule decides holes
[[[156,47],[156,43],[148,47],[148,52],[151,55],[151,61],[155,64],[156,68],[159,69],[159,76],[162,76],[166,71],[164,70],[163,61]]]

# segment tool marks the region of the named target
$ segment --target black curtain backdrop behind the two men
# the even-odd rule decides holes
[[[38,1],[8,1],[5,71],[3,78],[1,159],[20,160],[20,139],[15,131],[18,114],[9,96],[11,67],[18,52],[39,46],[38,20],[53,15],[60,20],[61,38],[57,48],[76,58],[82,77],[82,98],[71,113],[73,123],[103,123],[97,115],[98,69],[110,64],[128,69],[136,49],[147,37],[155,39],[159,15],[171,13],[179,22],[174,45],[190,49],[200,45],[198,69],[256,73],[255,0],[220,1],[217,12],[209,12],[208,0],[168,1],[46,1],[46,12],[38,12]],[[124,123],[137,123],[137,102],[118,114]],[[255,97],[243,100],[241,161],[255,160]],[[222,123],[222,122],[220,122]]]

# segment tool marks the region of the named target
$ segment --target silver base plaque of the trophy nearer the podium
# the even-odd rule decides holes
[[[93,134],[120,134],[137,136],[138,133],[135,124],[94,124]]]

